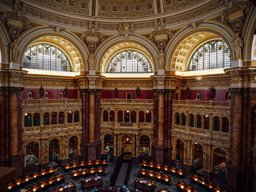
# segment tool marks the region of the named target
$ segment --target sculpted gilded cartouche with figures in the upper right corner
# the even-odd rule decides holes
[[[233,27],[235,31],[241,31],[251,3],[237,2],[234,4],[234,2],[229,1],[227,3],[228,7],[221,13],[219,20]]]

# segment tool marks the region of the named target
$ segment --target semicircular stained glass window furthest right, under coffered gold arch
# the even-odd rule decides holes
[[[213,40],[201,45],[192,55],[188,71],[230,67],[230,51],[223,40]]]

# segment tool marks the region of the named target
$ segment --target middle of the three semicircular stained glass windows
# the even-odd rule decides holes
[[[123,50],[112,57],[107,73],[152,73],[147,57],[136,50]]]

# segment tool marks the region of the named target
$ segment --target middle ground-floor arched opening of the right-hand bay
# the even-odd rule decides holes
[[[194,146],[192,147],[192,154],[194,154],[193,157],[193,164],[194,164],[194,171],[201,172],[200,169],[203,168],[203,156],[204,156],[204,151],[203,147],[195,143]]]

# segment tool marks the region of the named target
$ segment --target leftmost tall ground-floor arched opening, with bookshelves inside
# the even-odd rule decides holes
[[[39,163],[39,146],[35,141],[31,141],[26,146],[26,166]]]

